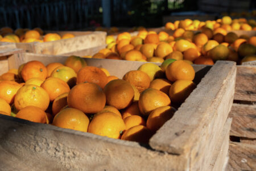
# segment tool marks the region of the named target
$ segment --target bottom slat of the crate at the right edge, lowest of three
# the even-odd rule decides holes
[[[229,143],[229,163],[226,170],[256,170],[256,145]]]

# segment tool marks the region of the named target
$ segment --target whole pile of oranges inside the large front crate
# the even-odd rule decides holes
[[[194,78],[182,60],[146,63],[122,79],[78,56],[64,65],[29,61],[1,75],[0,114],[148,143],[195,89]]]

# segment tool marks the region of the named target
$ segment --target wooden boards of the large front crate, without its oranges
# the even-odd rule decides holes
[[[8,67],[31,60],[64,62],[67,56],[18,53]],[[122,78],[145,62],[85,59]],[[197,88],[150,143],[110,139],[48,124],[0,116],[0,165],[9,170],[219,170],[225,166],[236,64],[193,65]],[[220,70],[222,71],[220,73]],[[0,67],[0,73],[6,72]],[[218,77],[216,77],[218,76]],[[24,162],[26,161],[26,162]]]

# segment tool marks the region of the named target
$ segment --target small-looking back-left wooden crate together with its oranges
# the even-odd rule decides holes
[[[19,28],[13,31],[3,27],[0,30],[0,45],[15,43],[26,52],[57,55],[93,48],[105,44],[105,32],[92,31],[42,31]]]

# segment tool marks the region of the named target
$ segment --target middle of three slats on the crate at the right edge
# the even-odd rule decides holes
[[[256,105],[233,103],[229,117],[233,118],[230,135],[256,138]]]

